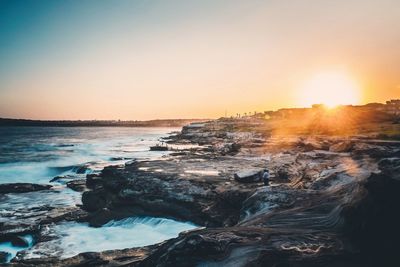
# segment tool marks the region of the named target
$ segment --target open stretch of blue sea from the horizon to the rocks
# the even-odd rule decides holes
[[[0,132],[0,183],[48,183],[60,174],[88,172],[124,163],[112,158],[154,158],[149,147],[171,128],[3,127]]]

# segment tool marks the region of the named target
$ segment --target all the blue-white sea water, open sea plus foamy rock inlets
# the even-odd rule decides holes
[[[168,152],[149,151],[174,128],[127,127],[0,127],[0,183],[49,183],[54,176],[84,178],[104,166],[132,159],[155,159]],[[80,174],[77,170],[85,166]],[[81,193],[63,183],[52,190],[0,196],[0,222],[18,220],[18,215],[41,206],[80,204]],[[15,215],[15,216],[14,216]],[[14,216],[14,217],[13,217]],[[29,217],[27,214],[26,217]],[[28,218],[29,219],[29,218]],[[14,221],[15,223],[15,221]],[[132,217],[112,221],[101,228],[85,223],[61,222],[48,231],[58,238],[35,244],[32,237],[27,255],[69,257],[86,251],[102,251],[154,244],[193,229],[191,223],[163,218]],[[0,251],[12,257],[26,248],[0,243]]]

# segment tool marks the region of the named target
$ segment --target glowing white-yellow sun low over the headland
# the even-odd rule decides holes
[[[343,73],[319,73],[306,81],[299,90],[300,105],[323,104],[329,108],[360,102],[360,88]]]

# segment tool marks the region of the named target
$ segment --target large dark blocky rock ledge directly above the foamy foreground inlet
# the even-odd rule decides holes
[[[209,160],[208,156],[204,157]],[[253,186],[227,185],[227,178],[219,174],[186,172],[189,164],[198,167],[198,162],[190,158],[179,165],[171,158],[138,162],[132,168],[106,168],[96,177],[98,183],[93,193],[83,194],[83,208],[92,213],[108,208],[113,214],[126,210],[131,216],[166,216],[207,226],[235,224],[241,203],[251,194]],[[181,175],[192,179],[182,179]],[[232,177],[233,172],[229,176]],[[98,206],[98,203],[103,204]],[[100,213],[93,215],[102,216]]]

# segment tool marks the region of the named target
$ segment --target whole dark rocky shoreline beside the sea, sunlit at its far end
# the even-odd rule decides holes
[[[29,259],[22,252],[11,265],[396,266],[400,143],[270,136],[259,125],[219,120],[184,127],[165,140],[183,148],[68,181],[83,191],[81,207],[44,207],[36,218],[2,225],[0,238],[29,233],[40,245],[53,222],[100,227],[137,215],[200,228],[152,246],[67,259]],[[269,187],[235,179],[264,168],[271,171]]]

